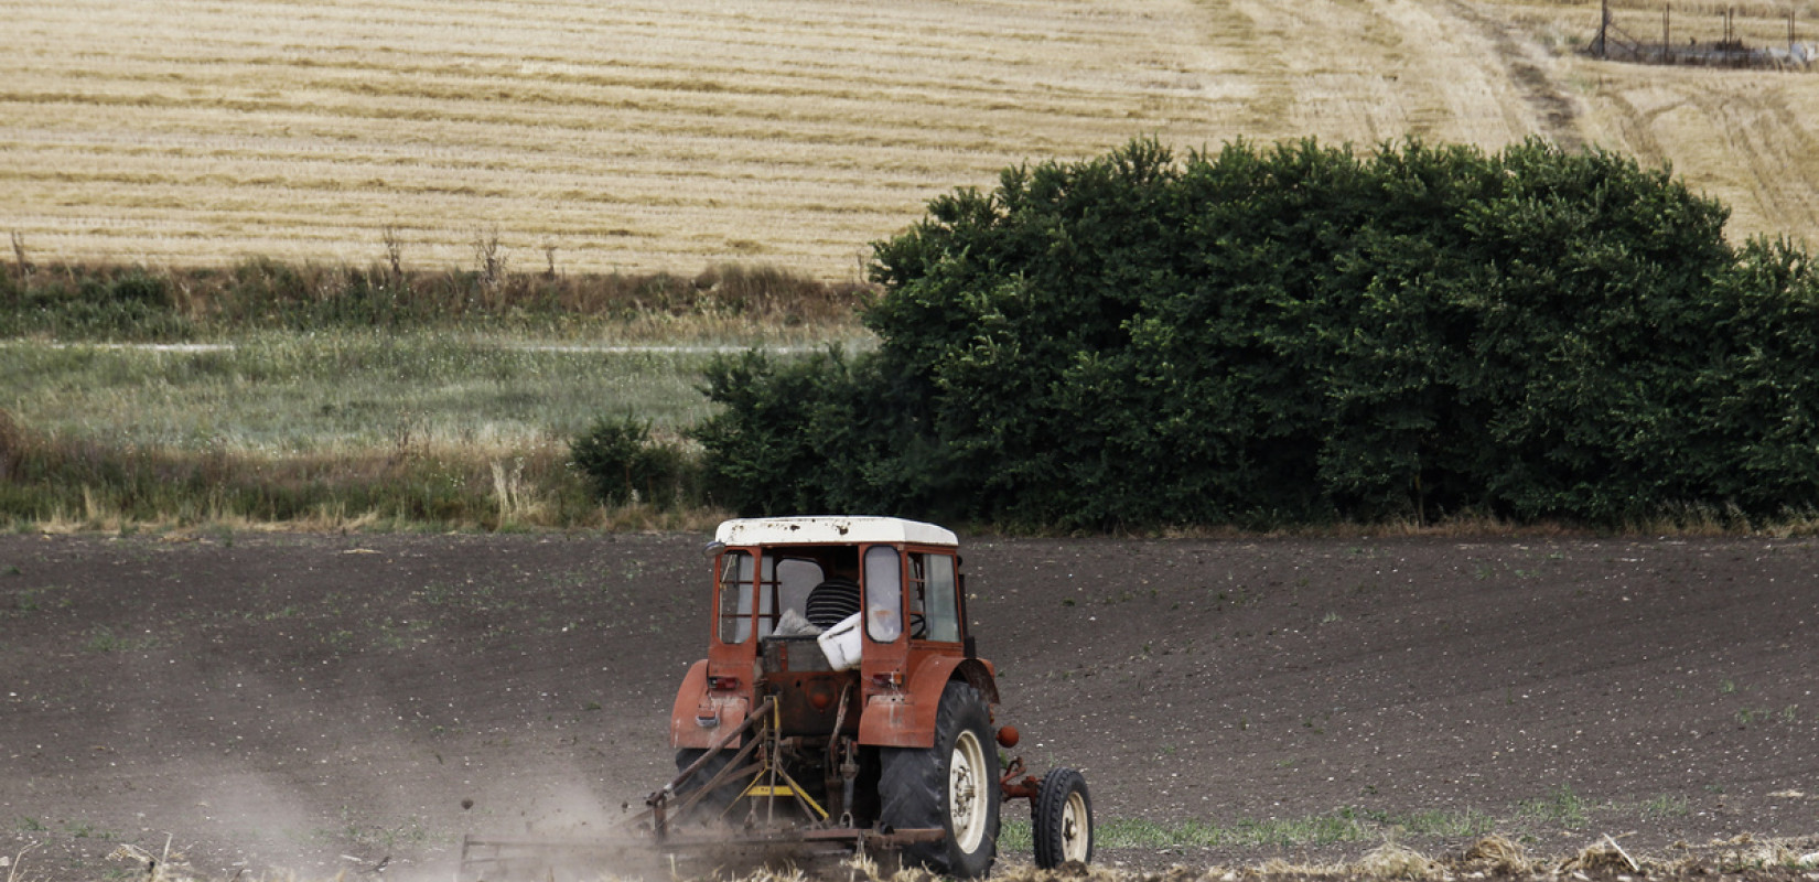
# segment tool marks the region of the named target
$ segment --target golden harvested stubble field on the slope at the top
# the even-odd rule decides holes
[[[1770,38],[1784,7],[1757,5],[1746,35]],[[409,264],[471,266],[497,229],[520,269],[751,260],[839,280],[931,195],[1150,135],[1541,135],[1672,160],[1735,205],[1737,235],[1819,229],[1819,78],[1592,62],[1573,55],[1597,24],[1584,0],[4,0],[0,16],[0,227],[38,262],[366,264],[393,227]]]

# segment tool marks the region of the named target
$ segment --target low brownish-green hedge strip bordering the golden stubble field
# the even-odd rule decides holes
[[[246,331],[333,327],[562,327],[577,320],[744,316],[784,326],[844,324],[857,284],[775,266],[669,273],[504,273],[287,264],[224,269],[122,264],[0,267],[0,338],[176,342]]]

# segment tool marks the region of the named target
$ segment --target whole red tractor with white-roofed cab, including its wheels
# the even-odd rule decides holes
[[[1031,802],[1035,862],[1093,855],[1075,769],[1000,767],[1017,729],[968,635],[948,529],[879,516],[749,518],[713,544],[708,658],[677,691],[678,775],[649,829],[689,840],[899,849],[948,877],[991,869],[999,806]]]

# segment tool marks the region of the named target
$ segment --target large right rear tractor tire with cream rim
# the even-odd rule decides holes
[[[999,853],[999,751],[991,709],[971,684],[953,680],[935,711],[933,747],[879,751],[879,820],[891,829],[940,827],[940,842],[904,846],[906,864],[980,878]]]

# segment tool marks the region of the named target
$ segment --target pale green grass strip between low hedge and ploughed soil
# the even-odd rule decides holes
[[[597,351],[420,331],[229,349],[0,346],[0,522],[124,529],[711,522],[602,507],[569,444],[609,415],[675,442],[711,349]],[[677,520],[680,518],[680,520]]]

